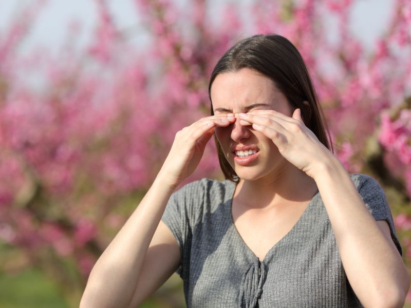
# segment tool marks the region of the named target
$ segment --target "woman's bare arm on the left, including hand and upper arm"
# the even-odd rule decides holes
[[[93,267],[81,308],[138,304],[172,275],[180,253],[160,219],[175,187],[197,167],[214,127],[230,121],[226,115],[207,117],[176,134],[152,187]]]

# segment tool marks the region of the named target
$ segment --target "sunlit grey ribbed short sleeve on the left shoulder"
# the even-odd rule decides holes
[[[161,220],[169,227],[180,247],[180,266],[176,273],[183,278],[186,264],[190,262],[192,229],[199,218],[199,205],[203,202],[201,181],[183,186],[174,192],[167,203]]]

